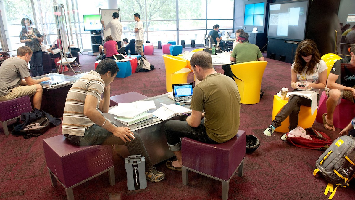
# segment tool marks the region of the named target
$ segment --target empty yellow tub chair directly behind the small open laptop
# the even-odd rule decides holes
[[[166,91],[173,91],[173,84],[187,83],[187,75],[191,69],[186,68],[187,62],[184,58],[163,55],[165,63]]]

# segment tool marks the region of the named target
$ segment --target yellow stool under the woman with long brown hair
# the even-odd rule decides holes
[[[272,120],[275,119],[275,116],[280,113],[281,109],[286,105],[288,99],[282,100],[277,95],[274,95],[274,105],[272,107]],[[298,117],[298,126],[306,129],[312,127],[314,121],[316,120],[317,110],[311,114],[311,107],[308,106],[301,106],[299,117]],[[289,132],[288,127],[290,126],[289,117],[285,119],[281,123],[281,126],[277,127],[275,131],[287,133]]]

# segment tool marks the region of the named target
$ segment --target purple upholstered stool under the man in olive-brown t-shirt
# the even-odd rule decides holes
[[[228,199],[229,180],[237,170],[238,176],[243,175],[245,149],[245,131],[238,131],[236,137],[220,144],[182,138],[182,184],[187,184],[190,170],[222,181],[222,199]]]

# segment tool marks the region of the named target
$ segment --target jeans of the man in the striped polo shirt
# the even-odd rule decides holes
[[[134,133],[134,137],[130,138],[131,142],[124,142],[121,140],[121,138],[114,136],[111,132],[108,130],[102,128],[101,126],[98,126],[96,124],[90,126],[89,128],[86,128],[84,136],[72,136],[68,134],[64,134],[64,136],[73,144],[77,146],[88,146],[88,145],[94,145],[94,144],[102,144],[102,145],[109,145],[109,144],[118,144],[118,145],[124,145],[127,147],[128,152],[130,155],[138,155],[141,154],[144,156],[146,160],[146,172],[149,171],[149,169],[152,169],[152,161],[151,158],[149,158],[148,152],[146,148],[144,147],[144,144],[142,142],[141,137],[138,135],[138,133],[132,131]]]

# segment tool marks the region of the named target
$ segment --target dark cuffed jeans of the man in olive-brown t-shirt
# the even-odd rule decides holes
[[[196,128],[189,126],[186,121],[170,120],[164,124],[164,130],[170,151],[181,150],[180,137],[187,137],[208,144],[218,144],[208,137],[204,127],[204,119],[201,120],[200,126]]]

